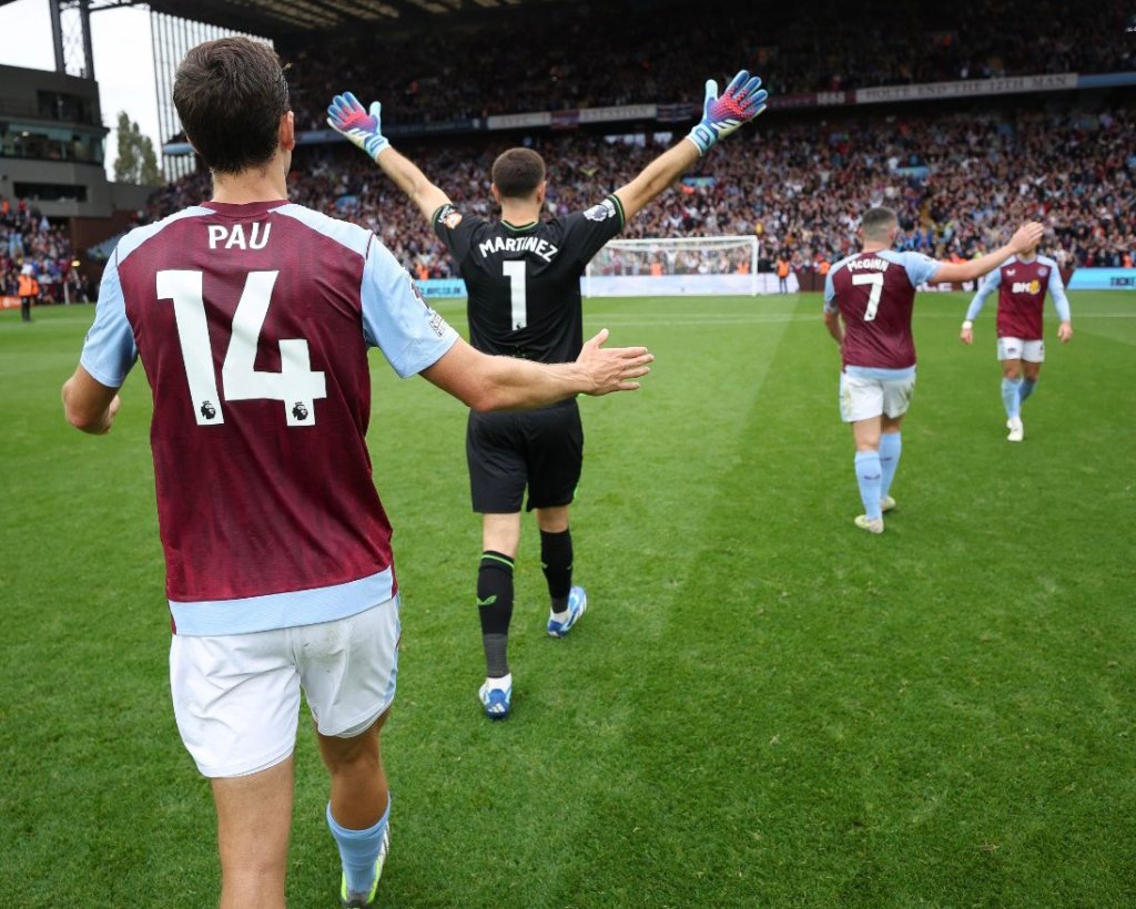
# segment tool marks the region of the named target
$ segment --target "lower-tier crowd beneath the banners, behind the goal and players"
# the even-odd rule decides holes
[[[886,204],[900,212],[903,246],[937,258],[980,254],[1010,225],[1042,218],[1051,228],[1045,249],[1062,263],[1130,266],[1131,116],[1120,109],[759,124],[713,151],[703,174],[669,190],[625,236],[757,234],[763,270],[778,256],[815,268],[857,249],[859,213]],[[459,207],[490,216],[488,172],[503,148],[435,141],[412,155]],[[594,204],[659,151],[645,138],[573,134],[546,135],[535,148],[550,168],[550,216]],[[294,201],[370,228],[419,277],[450,276],[450,259],[420,213],[354,149],[299,149],[294,169]],[[208,194],[208,175],[192,175],[156,195],[150,217]]]

